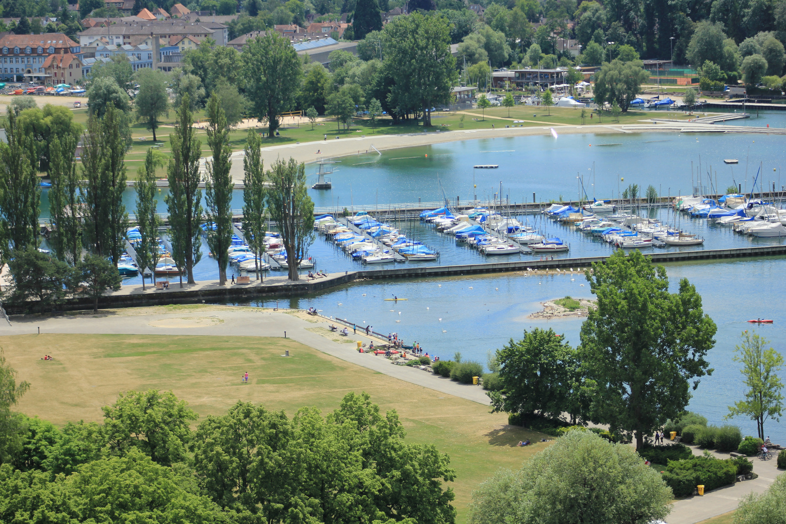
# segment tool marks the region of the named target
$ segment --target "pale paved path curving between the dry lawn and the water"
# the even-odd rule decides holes
[[[297,313],[297,314],[303,314]],[[183,327],[159,327],[151,325],[166,319],[189,319],[191,317],[218,317],[221,322],[212,325],[188,325]],[[319,320],[317,320],[319,319]],[[0,319],[2,321],[2,319]],[[314,317],[314,321],[303,320],[284,310],[273,311],[261,308],[233,306],[205,306],[196,310],[188,309],[173,313],[159,313],[152,309],[107,310],[92,314],[65,314],[57,317],[14,316],[11,325],[2,321],[0,335],[28,335],[42,333],[64,334],[127,334],[127,335],[211,335],[211,336],[271,336],[294,339],[305,346],[340,358],[343,361],[372,369],[395,379],[404,380],[420,387],[437,390],[454,397],[465,398],[479,404],[489,405],[490,400],[483,389],[476,386],[459,384],[450,379],[434,376],[416,368],[392,365],[381,356],[361,354],[354,350],[354,343],[335,343],[325,336],[309,331],[309,328],[327,328],[330,324],[324,318]],[[371,339],[360,334],[350,335],[352,341],[369,343]],[[380,340],[374,338],[375,343]],[[450,350],[441,351],[444,354]],[[435,354],[434,351],[431,351]],[[438,351],[436,354],[439,354]]]

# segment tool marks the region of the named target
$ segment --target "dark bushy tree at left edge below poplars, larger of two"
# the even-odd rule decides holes
[[[54,309],[65,298],[65,290],[72,282],[72,270],[65,262],[50,258],[34,244],[12,251],[8,269],[13,282],[6,287],[6,299],[23,305],[38,301],[39,310]]]

